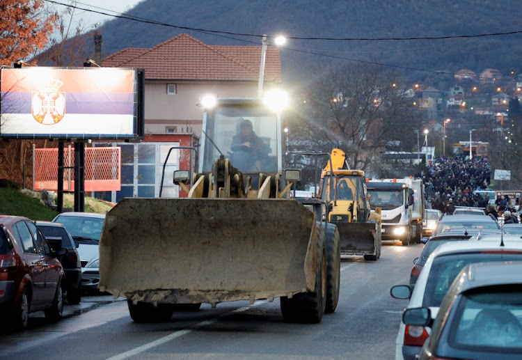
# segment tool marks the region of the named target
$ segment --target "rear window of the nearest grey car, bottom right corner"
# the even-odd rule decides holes
[[[466,292],[456,314],[448,337],[452,347],[522,353],[521,285],[497,285]]]

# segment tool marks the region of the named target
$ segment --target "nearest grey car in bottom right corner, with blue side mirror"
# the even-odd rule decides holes
[[[445,295],[420,359],[520,359],[522,263],[462,269]],[[430,326],[431,309],[409,308],[403,321]]]

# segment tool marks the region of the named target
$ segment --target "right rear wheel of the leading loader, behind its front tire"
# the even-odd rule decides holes
[[[337,226],[328,224],[324,232],[326,237],[326,308],[329,314],[335,311],[339,302],[341,279],[341,248]]]

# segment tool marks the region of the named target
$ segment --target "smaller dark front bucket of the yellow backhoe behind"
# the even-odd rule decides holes
[[[377,223],[336,222],[335,225],[339,230],[342,255],[375,255]]]

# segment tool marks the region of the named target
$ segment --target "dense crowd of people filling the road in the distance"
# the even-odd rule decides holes
[[[422,180],[425,185],[427,209],[453,214],[456,206],[484,208],[487,214],[493,214],[494,217],[504,215],[508,224],[518,221],[516,208],[520,205],[519,198],[510,201],[507,196],[498,196],[493,204],[487,193],[482,196],[474,192],[487,189],[491,182],[491,166],[487,158],[436,159],[434,164],[428,167]],[[516,208],[513,205],[516,205]]]

